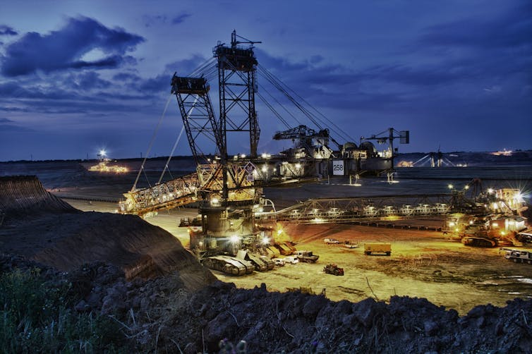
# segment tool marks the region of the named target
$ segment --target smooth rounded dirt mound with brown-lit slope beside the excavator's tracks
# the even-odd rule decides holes
[[[192,288],[214,280],[179,240],[138,216],[86,212],[75,220],[75,228],[68,234],[61,231],[64,237],[35,252],[32,258],[64,270],[87,262],[109,262],[121,267],[127,278],[178,270]]]

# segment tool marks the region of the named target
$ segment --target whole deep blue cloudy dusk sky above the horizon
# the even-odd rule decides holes
[[[357,143],[393,127],[411,132],[400,152],[532,148],[529,0],[0,0],[0,161],[145,156],[162,116],[150,156],[169,154],[182,126],[171,75],[234,29]],[[257,106],[259,152],[286,147]],[[190,154],[184,135],[175,154]]]

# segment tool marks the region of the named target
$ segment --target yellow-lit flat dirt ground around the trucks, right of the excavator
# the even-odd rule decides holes
[[[468,248],[446,240],[442,233],[334,225],[334,238],[392,243],[392,255],[366,256],[361,248],[348,249],[323,242],[330,225],[283,226],[286,237],[300,241],[298,250],[320,255],[315,264],[286,264],[268,273],[247,277],[215,275],[238,287],[253,288],[266,283],[272,291],[311,287],[316,293],[326,289],[327,298],[357,302],[365,298],[387,300],[392,295],[427,298],[436,305],[454,308],[464,314],[472,307],[491,303],[504,306],[507,300],[532,298],[532,267],[514,264],[499,254],[498,248]],[[315,238],[314,235],[321,237]],[[344,276],[325,274],[323,267],[336,263]]]

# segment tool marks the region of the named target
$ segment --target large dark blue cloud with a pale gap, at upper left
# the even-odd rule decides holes
[[[128,57],[124,54],[144,40],[121,28],[107,28],[92,18],[69,18],[60,30],[47,35],[28,32],[9,44],[2,59],[1,73],[14,77],[38,70],[49,73],[68,68],[116,68]],[[93,49],[109,56],[95,61],[81,59]],[[131,57],[128,60],[131,61]]]

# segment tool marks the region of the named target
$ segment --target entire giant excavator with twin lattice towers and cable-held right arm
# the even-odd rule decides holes
[[[131,191],[124,194],[126,200],[119,205],[122,213],[143,216],[197,202],[202,227],[201,231],[191,233],[191,249],[200,259],[236,255],[243,247],[261,253],[262,248],[272,242],[271,231],[267,233],[255,226],[254,208],[260,207],[262,202],[262,187],[331,174],[335,164],[341,163],[344,166],[344,161],[353,159],[358,151],[354,143],[337,144],[337,150],[330,148],[329,130],[326,128],[320,128],[318,133],[306,126],[289,128],[286,121],[258,93],[258,61],[253,52],[253,44],[256,43],[260,42],[240,37],[234,31],[230,45],[219,43],[214,47],[213,66],[209,69],[206,69],[206,64],[186,77],[174,73],[171,78],[171,94],[175,95],[181,112],[188,144],[197,165],[196,172],[167,182],[159,180],[159,183],[150,188],[136,188],[137,178]],[[214,72],[214,65],[219,84],[218,117],[214,115],[209,97],[210,86],[205,78],[205,72]],[[284,91],[294,101],[282,85],[274,82],[275,78],[271,73],[264,68],[260,70],[267,80],[274,83],[274,87]],[[297,138],[299,145],[305,145],[306,149],[296,146],[290,152],[258,156],[260,128],[255,110],[255,94],[289,128],[286,132],[277,132],[274,139]],[[306,113],[316,125],[320,123],[308,110]],[[246,136],[249,142],[248,153],[230,158],[227,148],[229,136],[238,136],[239,142]],[[394,138],[392,130],[389,138],[390,142]],[[201,147],[206,143],[214,144],[214,155],[207,156],[202,152]],[[370,142],[364,144],[371,145]],[[364,149],[367,151],[368,147]],[[377,157],[373,149],[371,155],[372,158]],[[357,156],[360,157],[361,154]],[[393,158],[393,152],[386,156],[386,166],[382,171],[389,171],[393,167],[393,161],[389,163],[390,158]],[[346,175],[347,172],[344,173]],[[266,255],[267,252],[264,251],[263,254]],[[246,271],[242,269],[248,269],[247,264],[236,267],[236,259],[231,262],[226,260],[226,263],[224,260],[224,257],[218,257],[206,263],[213,264],[212,267],[222,271],[228,269],[229,274],[243,274]]]

